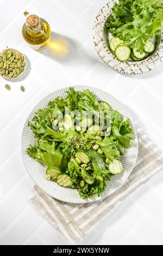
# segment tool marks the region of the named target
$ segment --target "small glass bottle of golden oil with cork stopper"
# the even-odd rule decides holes
[[[24,40],[34,50],[45,49],[51,41],[51,28],[48,22],[37,15],[29,15],[24,12],[26,22],[22,28]]]

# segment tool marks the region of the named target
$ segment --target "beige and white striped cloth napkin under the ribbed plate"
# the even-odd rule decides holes
[[[136,126],[136,132],[139,140],[137,162],[127,182],[110,197],[96,203],[68,204],[55,200],[39,187],[34,186],[35,196],[30,200],[32,205],[72,245],[82,240],[122,200],[163,169],[163,155],[159,148],[138,126]]]

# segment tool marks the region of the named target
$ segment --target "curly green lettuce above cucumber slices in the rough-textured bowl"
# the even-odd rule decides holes
[[[147,40],[160,35],[163,26],[161,0],[120,0],[112,8],[106,27],[124,44],[143,51]]]

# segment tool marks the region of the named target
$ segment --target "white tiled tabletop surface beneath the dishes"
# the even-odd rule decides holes
[[[92,26],[107,0],[0,0],[0,50],[16,47],[28,58],[26,76],[15,82],[0,79],[0,244],[62,245],[64,236],[30,206],[33,182],[21,159],[21,132],[34,105],[46,94],[71,85],[92,85],[111,93],[163,151],[163,64],[151,73],[124,76],[97,56]],[[45,4],[46,3],[46,4]],[[62,52],[35,52],[21,35],[23,11],[49,21]],[[11,91],[4,85],[9,83]],[[20,86],[26,92],[20,91]],[[163,172],[126,199],[81,242],[163,245]]]

